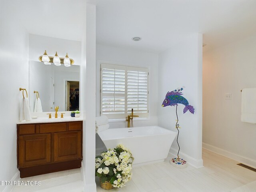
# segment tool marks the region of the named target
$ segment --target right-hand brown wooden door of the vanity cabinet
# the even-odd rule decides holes
[[[54,162],[81,157],[81,131],[54,133]]]

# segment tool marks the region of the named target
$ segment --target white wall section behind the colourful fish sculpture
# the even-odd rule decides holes
[[[176,107],[161,107],[166,93],[185,86],[182,93],[195,112],[183,114],[184,105],[178,104],[180,124],[180,157],[196,167],[202,166],[202,34],[192,34],[179,44],[159,54],[158,125],[173,131]],[[170,152],[177,155],[174,140]]]

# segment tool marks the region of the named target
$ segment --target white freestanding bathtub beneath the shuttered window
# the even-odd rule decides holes
[[[114,128],[99,132],[107,149],[123,144],[134,156],[133,164],[140,166],[162,162],[168,156],[176,132],[159,126]]]

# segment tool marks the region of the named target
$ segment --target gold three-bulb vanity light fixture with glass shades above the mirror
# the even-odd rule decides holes
[[[57,52],[54,57],[48,56],[46,53],[46,50],[44,51],[44,54],[39,57],[39,60],[41,62],[44,62],[46,65],[50,65],[54,63],[56,66],[60,66],[61,64],[64,64],[66,67],[70,67],[70,65],[74,64],[74,60],[68,57],[68,53],[66,54],[65,58],[61,58],[58,56]]]

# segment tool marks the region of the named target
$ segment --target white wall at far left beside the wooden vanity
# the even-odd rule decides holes
[[[0,181],[16,180],[16,122],[22,92],[28,89],[28,33],[15,14],[22,2],[0,1]],[[6,186],[0,185],[0,191]],[[5,191],[10,191],[7,186]]]

